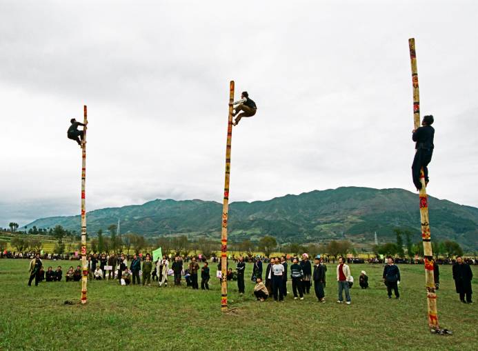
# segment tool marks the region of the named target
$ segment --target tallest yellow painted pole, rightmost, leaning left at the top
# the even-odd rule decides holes
[[[420,126],[420,94],[418,86],[417,71],[417,52],[415,51],[415,39],[408,39],[410,48],[410,61],[412,63],[412,86],[413,86],[413,121],[415,129]],[[425,284],[426,297],[428,301],[428,325],[432,330],[438,330],[437,313],[437,294],[435,292],[435,277],[433,276],[433,254],[432,242],[430,236],[430,221],[428,221],[428,195],[426,194],[426,184],[424,170],[420,171],[421,190],[420,198],[420,220],[421,220],[421,240],[424,243],[424,261],[425,261]]]

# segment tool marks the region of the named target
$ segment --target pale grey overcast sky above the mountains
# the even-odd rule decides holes
[[[87,210],[222,201],[229,81],[258,112],[232,133],[230,201],[355,185],[414,190],[421,112],[428,192],[478,206],[478,3],[0,1],[0,226]],[[418,208],[417,208],[418,210]]]

